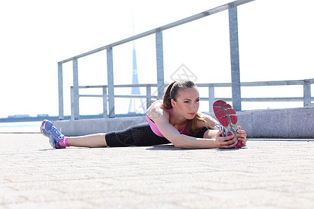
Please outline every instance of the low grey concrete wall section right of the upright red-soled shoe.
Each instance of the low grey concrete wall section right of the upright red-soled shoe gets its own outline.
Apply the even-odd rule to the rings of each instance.
[[[241,111],[238,124],[251,138],[313,139],[314,108]]]

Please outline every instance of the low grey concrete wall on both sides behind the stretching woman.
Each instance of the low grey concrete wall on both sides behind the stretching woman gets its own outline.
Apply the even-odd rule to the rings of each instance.
[[[214,117],[214,114],[209,114]],[[268,109],[237,112],[238,124],[249,138],[314,139],[314,108]],[[147,122],[145,117],[54,121],[66,136],[79,136]]]

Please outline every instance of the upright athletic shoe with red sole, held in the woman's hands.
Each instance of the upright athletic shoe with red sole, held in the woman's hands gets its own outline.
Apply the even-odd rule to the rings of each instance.
[[[234,139],[236,139],[237,145],[235,148],[241,148],[243,146],[242,141],[239,141],[239,137],[236,136],[237,130],[239,130],[237,121],[237,113],[231,107],[230,104],[223,100],[216,100],[213,103],[214,114],[219,121],[219,123],[223,126],[223,134],[222,137],[233,135]],[[221,127],[219,127],[222,130]]]

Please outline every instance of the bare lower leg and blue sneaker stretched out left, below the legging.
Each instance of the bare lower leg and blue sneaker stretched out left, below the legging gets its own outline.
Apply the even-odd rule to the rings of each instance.
[[[105,134],[90,134],[82,137],[65,137],[50,121],[43,121],[40,130],[50,139],[53,148],[67,146],[106,147]]]

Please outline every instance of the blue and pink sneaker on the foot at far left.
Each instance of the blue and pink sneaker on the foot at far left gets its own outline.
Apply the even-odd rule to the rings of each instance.
[[[40,126],[40,131],[49,138],[53,148],[66,148],[68,146],[67,138],[50,121],[44,120]]]

